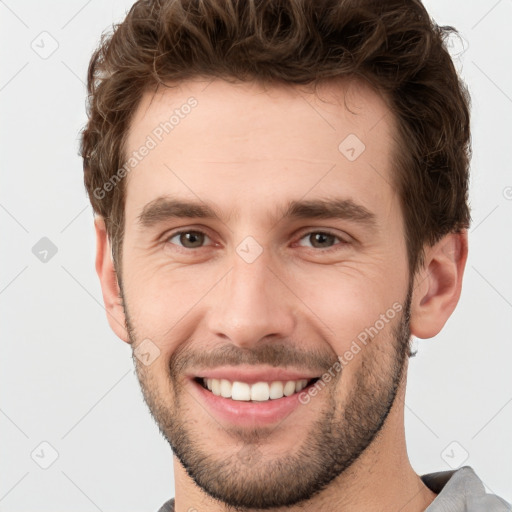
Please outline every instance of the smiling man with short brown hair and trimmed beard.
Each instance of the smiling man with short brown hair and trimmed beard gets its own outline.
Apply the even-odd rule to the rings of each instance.
[[[137,2],[89,67],[108,320],[174,452],[161,511],[504,511],[407,457],[458,302],[469,95],[419,1]]]

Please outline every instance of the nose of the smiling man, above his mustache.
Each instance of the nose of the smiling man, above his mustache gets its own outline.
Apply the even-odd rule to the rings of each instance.
[[[213,336],[250,348],[267,336],[292,335],[295,297],[273,267],[265,251],[252,263],[234,254],[212,297],[208,328]]]

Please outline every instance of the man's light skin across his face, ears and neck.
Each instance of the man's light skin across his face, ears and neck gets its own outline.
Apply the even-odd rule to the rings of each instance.
[[[325,83],[316,93],[222,80],[160,88],[143,96],[127,154],[190,96],[198,106],[125,178],[122,290],[104,221],[95,221],[96,270],[109,323],[134,350],[145,339],[159,350],[149,366],[134,362],[146,402],[179,455],[176,511],[237,509],[227,503],[290,512],[425,510],[435,494],[414,472],[405,444],[407,342],[410,335],[435,336],[453,312],[467,233],[426,247],[424,266],[409,275],[393,186],[394,118],[364,83]],[[350,133],[366,146],[352,162],[338,150]],[[141,228],[137,218],[145,205],[166,194],[211,204],[219,218]],[[363,205],[375,226],[280,215],[290,200],[332,197]],[[207,237],[186,248],[187,240],[171,238],[178,230]],[[311,235],[326,230],[339,238],[315,243]],[[252,263],[236,251],[247,236],[262,249]],[[319,374],[395,303],[402,312],[324,390],[272,428],[219,420],[185,378],[200,367],[201,356],[222,361],[226,347],[233,365],[289,367],[293,355],[297,365]],[[335,443],[343,447],[337,453]],[[327,474],[327,466],[336,474]],[[315,475],[322,471],[320,484]],[[306,492],[302,501],[295,481]],[[273,489],[277,500],[276,482],[283,484],[281,503],[272,505],[265,490]]]

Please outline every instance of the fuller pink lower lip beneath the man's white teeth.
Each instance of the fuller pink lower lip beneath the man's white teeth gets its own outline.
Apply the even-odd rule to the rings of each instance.
[[[248,402],[217,396],[195,380],[191,380],[191,383],[194,395],[199,395],[200,402],[206,405],[209,412],[224,422],[242,427],[272,425],[282,421],[302,405],[299,396],[309,387],[283,398],[265,402]]]

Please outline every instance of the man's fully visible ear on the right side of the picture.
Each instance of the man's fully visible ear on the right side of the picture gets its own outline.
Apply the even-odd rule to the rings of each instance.
[[[459,302],[467,256],[467,230],[449,233],[425,250],[425,264],[414,278],[413,336],[432,338],[441,331]]]

